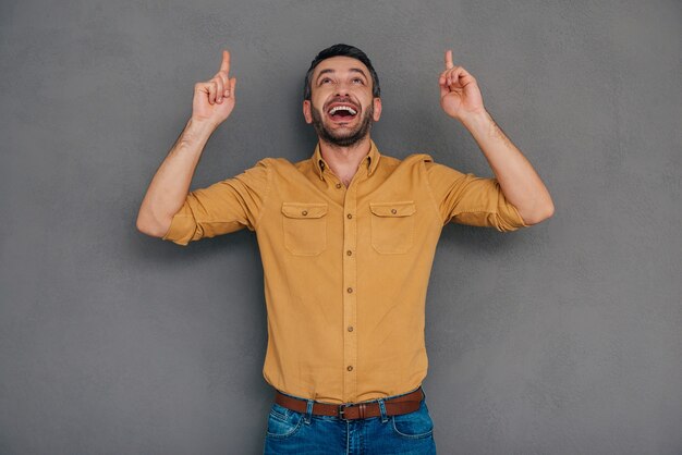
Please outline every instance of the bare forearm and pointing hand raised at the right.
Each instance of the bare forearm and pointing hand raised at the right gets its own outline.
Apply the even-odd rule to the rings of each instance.
[[[514,205],[526,224],[551,217],[555,205],[547,187],[531,162],[495,123],[483,104],[474,76],[452,63],[452,51],[446,51],[446,70],[438,81],[440,106],[474,136],[488,160],[504,197]]]

